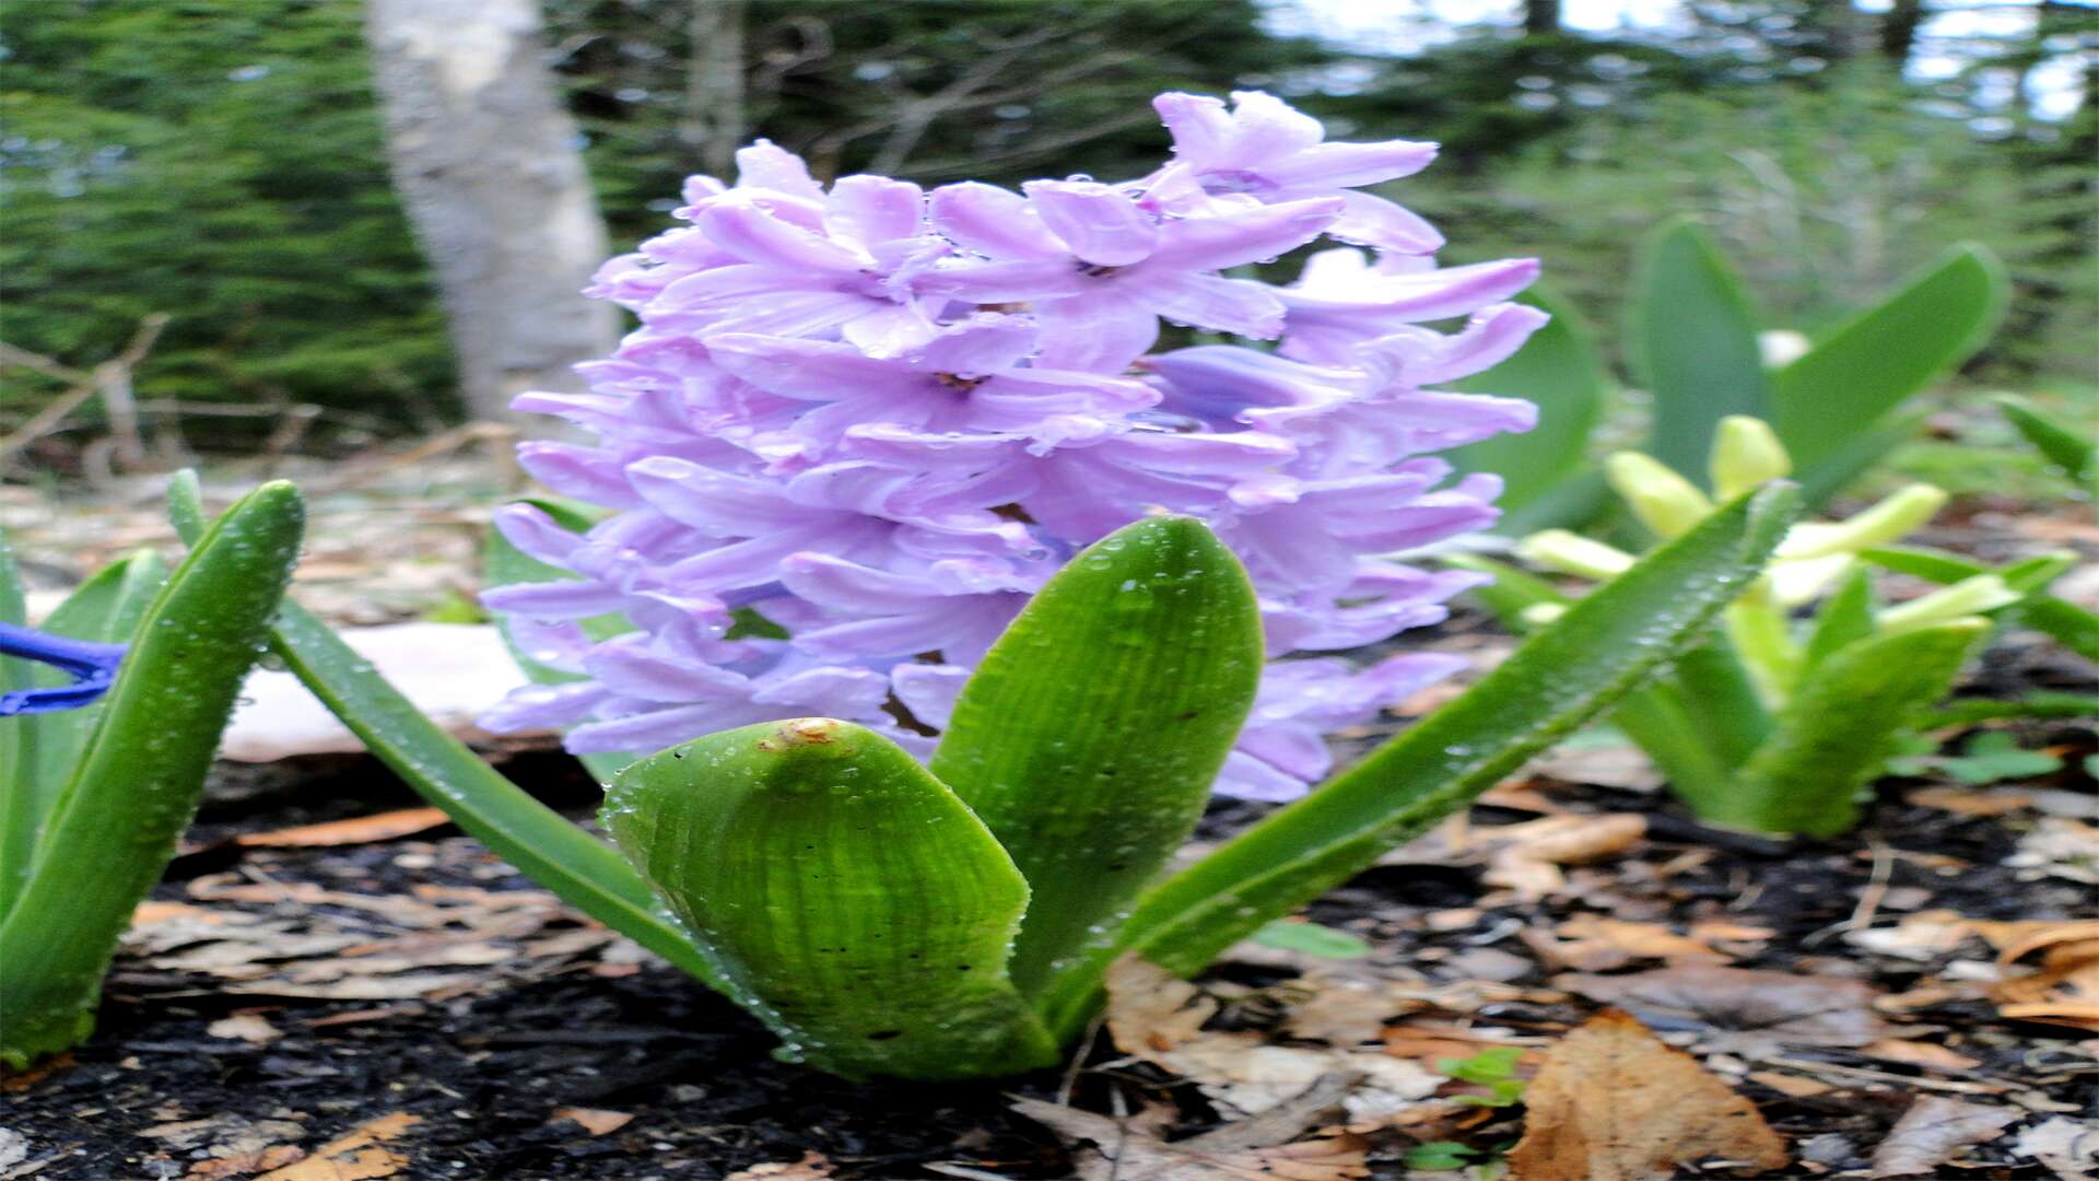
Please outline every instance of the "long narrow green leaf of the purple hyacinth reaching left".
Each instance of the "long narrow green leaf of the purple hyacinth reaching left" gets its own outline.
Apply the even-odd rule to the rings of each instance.
[[[168,515],[178,534],[191,536],[202,513],[195,475],[168,481]],[[497,775],[290,597],[271,628],[271,651],[380,763],[497,857],[699,979],[720,979],[693,939],[661,914],[649,883],[617,849]]]

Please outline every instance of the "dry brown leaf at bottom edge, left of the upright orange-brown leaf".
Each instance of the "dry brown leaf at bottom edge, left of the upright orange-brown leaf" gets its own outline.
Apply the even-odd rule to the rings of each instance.
[[[1127,1120],[1039,1099],[1020,1099],[1014,1110],[1070,1145],[1079,1181],[1356,1181],[1371,1175],[1369,1145],[1352,1133],[1276,1145],[1234,1147],[1205,1143],[1205,1137],[1167,1143]]]

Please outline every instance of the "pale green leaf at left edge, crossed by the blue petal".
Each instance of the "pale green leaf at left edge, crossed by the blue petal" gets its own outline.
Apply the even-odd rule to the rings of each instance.
[[[153,551],[118,559],[59,603],[42,630],[92,643],[124,643],[166,580],[168,563]],[[38,679],[42,677],[34,670],[27,675],[27,681]],[[48,683],[61,679],[52,675]],[[105,708],[107,702],[92,702],[76,710],[8,719],[21,723],[15,729],[23,748],[15,754],[13,773],[0,780],[0,792],[6,792],[6,807],[0,809],[6,817],[0,830],[0,916],[13,908],[27,880],[36,834],[50,820]]]

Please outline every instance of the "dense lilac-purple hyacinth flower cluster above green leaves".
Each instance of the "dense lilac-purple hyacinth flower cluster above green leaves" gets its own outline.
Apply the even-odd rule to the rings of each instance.
[[[1327,733],[1453,672],[1333,654],[1438,622],[1480,580],[1385,555],[1494,521],[1499,479],[1436,452],[1534,408],[1427,387],[1539,328],[1507,303],[1536,265],[1438,267],[1429,225],[1360,191],[1434,145],[1329,143],[1264,92],[1154,105],[1173,153],[1125,183],[825,187],[762,141],[735,185],[691,179],[688,225],[590,292],[640,328],[584,366],[588,393],[516,401],[596,435],[521,460],[611,513],[577,534],[502,511],[575,578],[487,603],[569,679],[485,725],[651,752],[814,714],[924,754],[1029,597],[1152,513],[1207,523],[1259,593],[1270,666],[1217,790],[1297,796]],[[1251,277],[1320,240],[1341,246],[1295,282]],[[592,639],[607,614],[634,630]]]

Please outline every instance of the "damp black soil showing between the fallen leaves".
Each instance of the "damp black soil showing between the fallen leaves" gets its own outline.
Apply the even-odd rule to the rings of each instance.
[[[2057,727],[2042,738],[2055,740],[2072,767],[2093,750],[2086,729]],[[588,813],[592,786],[565,761],[523,757],[510,771],[577,815]],[[2002,866],[2032,813],[1965,817],[1912,807],[1900,803],[1906,786],[1914,784],[1883,784],[1883,799],[1858,834],[1776,843],[1702,830],[1667,796],[1549,784],[1553,799],[1574,809],[1648,813],[1648,841],[1608,872],[1576,872],[1568,891],[1545,904],[1486,908],[1459,929],[1432,931],[1423,916],[1478,906],[1488,889],[1476,866],[1377,868],[1320,899],[1312,918],[1371,939],[1377,965],[1404,965],[1429,979],[1471,979],[1482,948],[1522,954],[1520,929],[1549,929],[1572,914],[1673,925],[1723,914],[1778,931],[1763,952],[1736,967],[1864,975],[1883,992],[1902,992],[1942,965],[1868,956],[1830,937],[1868,887],[1885,889],[1910,910],[1944,908],[1971,918],[2091,914],[2089,887],[2017,876]],[[2065,771],[2061,786],[2091,790],[2076,771]],[[229,870],[252,880],[367,893],[430,883],[533,889],[476,843],[447,836],[449,830],[332,849],[227,843],[235,832],[416,803],[365,761],[243,773],[241,782],[218,784],[214,801],[191,851],[162,885],[162,899],[185,899],[191,880]],[[1205,834],[1217,836],[1257,811],[1224,805]],[[1484,807],[1476,820],[1503,824],[1526,815]],[[1883,912],[1883,923],[1891,912]],[[1274,965],[1217,969],[1220,979],[1238,983],[1282,975],[1287,969]],[[1530,962],[1503,981],[1543,988],[1549,975]],[[1014,1095],[1056,1097],[1066,1082],[1060,1072],[953,1086],[840,1082],[775,1061],[772,1042],[756,1021],[655,960],[600,973],[586,958],[550,975],[497,981],[443,1000],[271,1000],[222,996],[212,983],[122,958],[94,1040],[57,1070],[8,1082],[0,1124],[27,1139],[27,1158],[13,1170],[0,1160],[0,1177],[212,1175],[193,1170],[231,1152],[225,1147],[231,1131],[275,1128],[264,1141],[311,1152],[395,1112],[420,1118],[393,1143],[407,1160],[395,1175],[418,1179],[716,1179],[760,1162],[793,1162],[804,1152],[823,1154],[842,1179],[936,1177],[928,1164],[938,1162],[1014,1179],[1068,1173],[1058,1141],[1008,1110]],[[1515,1000],[1482,1009],[1478,1019],[1553,1032],[1593,1011],[1595,1004],[1578,998]],[[206,1028],[229,1013],[260,1013],[283,1036],[269,1044],[212,1036]],[[2011,1025],[1984,1000],[1950,1002],[1910,1019],[1944,1028],[1927,1040],[1981,1059],[1984,1065],[1969,1072],[1973,1078],[2011,1080],[2057,1112],[2099,1116],[2099,1059],[2074,1047],[2086,1034]],[[1094,1047],[1091,1061],[1110,1055]],[[1811,1137],[1826,1137],[1818,1141],[1824,1164],[1816,1170],[1864,1166],[1877,1137],[1906,1105],[1904,1078],[1912,1068],[1845,1049],[1799,1049],[1793,1057],[1883,1076],[1858,1076],[1853,1084],[1809,1097],[1738,1080],[1797,1152]],[[1073,1101],[1108,1110],[1108,1091],[1121,1086],[1125,1095],[1180,1101],[1182,1128],[1211,1118],[1190,1086],[1148,1070],[1077,1072]],[[560,1107],[619,1112],[632,1120],[592,1135],[577,1122],[556,1120]],[[197,1135],[166,1131],[185,1120],[216,1124]],[[155,1135],[141,1135],[149,1131]],[[1404,1175],[1396,1162],[1400,1149],[1404,1141],[1383,1154],[1381,1177]],[[1975,1156],[1998,1164],[1963,1175],[2044,1175],[2002,1147],[1984,1145]]]

